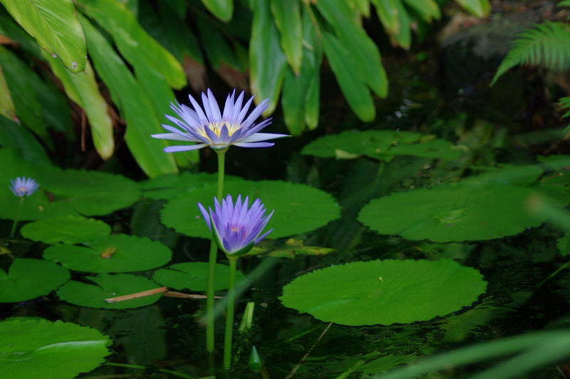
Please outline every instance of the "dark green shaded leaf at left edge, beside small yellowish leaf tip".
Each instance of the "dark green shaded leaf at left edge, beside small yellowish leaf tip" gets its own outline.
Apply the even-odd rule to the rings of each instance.
[[[0,46],[0,67],[16,107],[16,116],[32,132],[50,142],[48,128],[43,121],[41,104],[36,92],[31,91],[33,80],[40,80],[14,53]]]

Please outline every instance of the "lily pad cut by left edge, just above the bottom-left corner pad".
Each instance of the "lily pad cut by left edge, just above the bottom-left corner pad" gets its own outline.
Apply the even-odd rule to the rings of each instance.
[[[0,269],[0,302],[35,299],[69,280],[69,271],[53,262],[16,258],[8,273]],[[4,378],[0,375],[0,378]]]

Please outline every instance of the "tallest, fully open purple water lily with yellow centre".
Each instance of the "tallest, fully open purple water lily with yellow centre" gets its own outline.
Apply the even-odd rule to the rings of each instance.
[[[271,123],[271,119],[266,119],[259,124],[254,121],[269,106],[269,100],[261,102],[254,110],[245,118],[249,106],[252,105],[253,97],[251,97],[242,107],[244,101],[244,92],[240,93],[237,100],[234,101],[235,90],[226,98],[224,112],[220,114],[219,107],[212,94],[207,90],[207,95],[202,92],[202,107],[194,100],[194,97],[188,95],[192,107],[186,105],[170,103],[170,108],[176,112],[180,119],[165,114],[176,127],[162,124],[162,127],[171,133],[152,134],[152,137],[160,139],[171,139],[173,141],[198,142],[194,145],[168,146],[165,148],[167,153],[175,151],[187,151],[202,149],[204,146],[211,146],[212,149],[227,149],[230,145],[241,147],[269,147],[273,146],[273,142],[264,142],[268,139],[280,137],[289,137],[287,134],[276,133],[258,133],[261,129]],[[205,111],[205,113],[204,113]]]

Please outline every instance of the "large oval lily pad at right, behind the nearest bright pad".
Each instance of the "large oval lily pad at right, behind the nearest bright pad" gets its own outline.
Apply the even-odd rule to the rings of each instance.
[[[494,183],[442,185],[375,199],[358,220],[378,233],[408,240],[491,240],[541,223],[525,204],[532,193]]]

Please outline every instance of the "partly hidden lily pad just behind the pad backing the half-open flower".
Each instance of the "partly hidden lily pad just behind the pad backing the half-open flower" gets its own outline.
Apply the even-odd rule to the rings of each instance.
[[[167,199],[175,198],[196,188],[204,188],[204,186],[209,184],[217,184],[217,180],[217,174],[182,172],[181,174],[161,175],[144,181],[141,184],[141,189],[142,195],[147,198]],[[243,180],[239,176],[224,176],[225,183]]]

